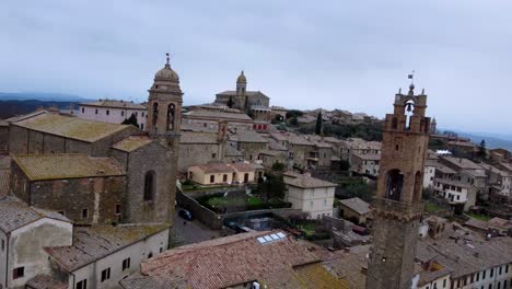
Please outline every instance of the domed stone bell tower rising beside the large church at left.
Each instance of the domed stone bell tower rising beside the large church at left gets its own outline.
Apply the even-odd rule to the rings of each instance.
[[[164,68],[154,74],[154,82],[149,89],[148,100],[148,122],[147,130],[149,136],[156,140],[162,147],[167,148],[167,155],[162,157],[158,164],[164,170],[155,173],[156,185],[163,194],[168,197],[167,218],[172,223],[174,218],[174,200],[176,196],[176,173],[179,148],[179,130],[182,125],[183,92],[179,88],[179,77],[171,68],[167,54]],[[155,164],[156,165],[156,164]],[[156,204],[159,198],[154,200]],[[162,199],[163,201],[163,199]]]

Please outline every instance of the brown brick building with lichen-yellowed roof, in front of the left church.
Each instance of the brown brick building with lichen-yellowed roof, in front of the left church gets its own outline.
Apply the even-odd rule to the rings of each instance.
[[[126,173],[110,158],[14,155],[10,187],[28,206],[59,211],[75,223],[112,223],[121,220]]]

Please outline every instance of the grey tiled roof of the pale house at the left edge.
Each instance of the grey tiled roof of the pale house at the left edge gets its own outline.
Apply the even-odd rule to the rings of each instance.
[[[60,213],[28,207],[24,201],[16,197],[8,196],[0,199],[0,230],[5,233],[12,232],[43,218],[71,222]]]

